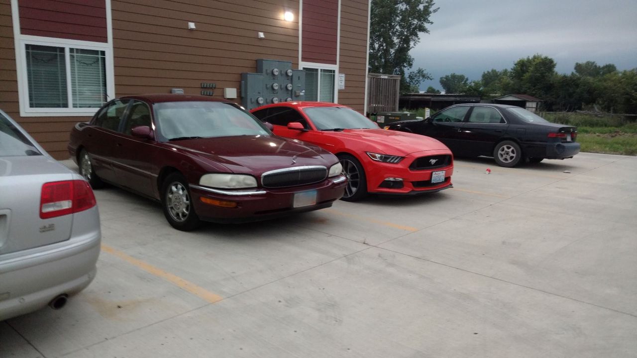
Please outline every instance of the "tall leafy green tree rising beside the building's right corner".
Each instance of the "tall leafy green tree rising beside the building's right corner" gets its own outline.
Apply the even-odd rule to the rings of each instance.
[[[410,50],[420,41],[421,33],[429,33],[429,17],[438,11],[433,0],[372,0],[369,29],[369,70],[373,73],[400,75],[401,92],[431,78],[417,69],[411,78],[405,76],[413,66]],[[410,74],[411,75],[411,74]]]

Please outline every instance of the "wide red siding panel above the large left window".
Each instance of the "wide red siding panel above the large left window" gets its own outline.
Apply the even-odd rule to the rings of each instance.
[[[105,0],[18,0],[20,33],[107,42]]]

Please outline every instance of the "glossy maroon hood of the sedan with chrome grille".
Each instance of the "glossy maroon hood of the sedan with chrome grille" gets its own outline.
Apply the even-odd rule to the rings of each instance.
[[[233,173],[255,176],[269,170],[294,166],[329,166],[338,159],[318,147],[308,148],[296,140],[278,136],[233,136],[171,141],[181,148],[224,165]]]

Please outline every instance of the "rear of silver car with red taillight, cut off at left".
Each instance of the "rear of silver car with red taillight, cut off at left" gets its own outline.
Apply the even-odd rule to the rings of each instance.
[[[62,308],[95,277],[100,240],[89,183],[0,111],[0,321]]]

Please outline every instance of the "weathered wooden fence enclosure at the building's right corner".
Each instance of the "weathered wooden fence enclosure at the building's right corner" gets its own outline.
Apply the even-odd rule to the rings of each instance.
[[[368,73],[367,113],[398,110],[400,78],[401,76],[398,75]]]

